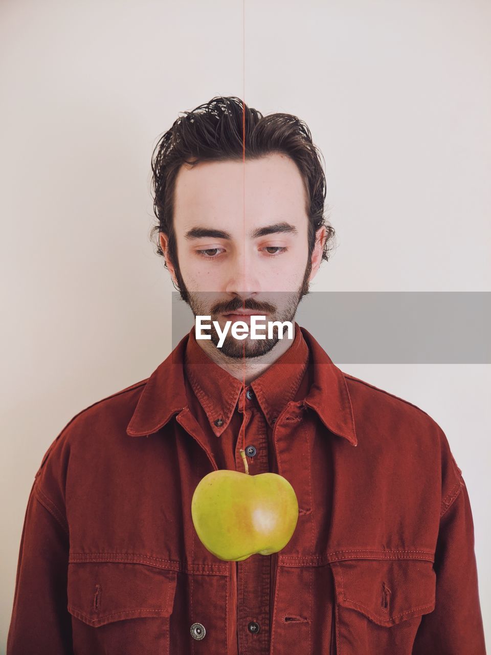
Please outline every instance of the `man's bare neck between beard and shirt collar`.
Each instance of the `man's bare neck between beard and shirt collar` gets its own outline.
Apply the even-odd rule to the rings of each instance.
[[[196,343],[198,343],[198,346],[206,352],[208,357],[215,362],[215,364],[219,365],[219,367],[223,368],[227,373],[230,373],[232,377],[235,377],[238,380],[245,380],[245,384],[247,385],[260,375],[263,375],[264,371],[267,371],[274,362],[279,360],[282,354],[290,348],[294,340],[295,322],[293,322],[293,338],[287,339],[286,337],[283,337],[283,339],[278,339],[273,348],[260,357],[236,359],[224,355],[223,352],[221,352],[220,349],[208,339],[198,339]]]

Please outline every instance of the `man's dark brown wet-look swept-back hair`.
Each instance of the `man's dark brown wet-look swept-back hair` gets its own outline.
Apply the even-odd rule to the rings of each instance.
[[[175,257],[173,193],[182,164],[237,160],[244,155],[259,159],[271,153],[284,153],[297,164],[306,187],[309,256],[316,243],[316,231],[325,225],[327,238],[322,257],[327,261],[335,230],[324,217],[326,188],[322,155],[312,143],[308,126],[291,114],[263,116],[233,96],[216,96],[182,113],[160,138],[152,155],[153,206],[158,224],[153,227],[151,238],[156,235],[156,253],[164,255],[158,239],[158,233],[162,232],[168,236],[169,259],[179,270]]]

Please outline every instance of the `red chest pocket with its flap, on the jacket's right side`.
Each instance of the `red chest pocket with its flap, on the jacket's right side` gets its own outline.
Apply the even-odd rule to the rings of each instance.
[[[331,569],[336,655],[410,655],[422,616],[435,609],[432,563],[359,559]]]

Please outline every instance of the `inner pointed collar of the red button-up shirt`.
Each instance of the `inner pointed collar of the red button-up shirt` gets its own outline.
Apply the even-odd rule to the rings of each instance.
[[[253,390],[266,420],[273,426],[283,407],[293,400],[308,364],[308,346],[300,327],[295,324],[295,338],[288,350],[262,375],[245,385]],[[244,406],[244,381],[215,364],[198,345],[194,329],[189,333],[185,350],[185,375],[208,416],[217,437],[227,429],[237,403]],[[215,421],[221,419],[219,426]]]

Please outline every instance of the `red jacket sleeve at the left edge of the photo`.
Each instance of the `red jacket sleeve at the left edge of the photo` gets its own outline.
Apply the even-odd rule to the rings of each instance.
[[[67,610],[68,553],[64,516],[36,479],[20,542],[7,655],[73,655]]]

